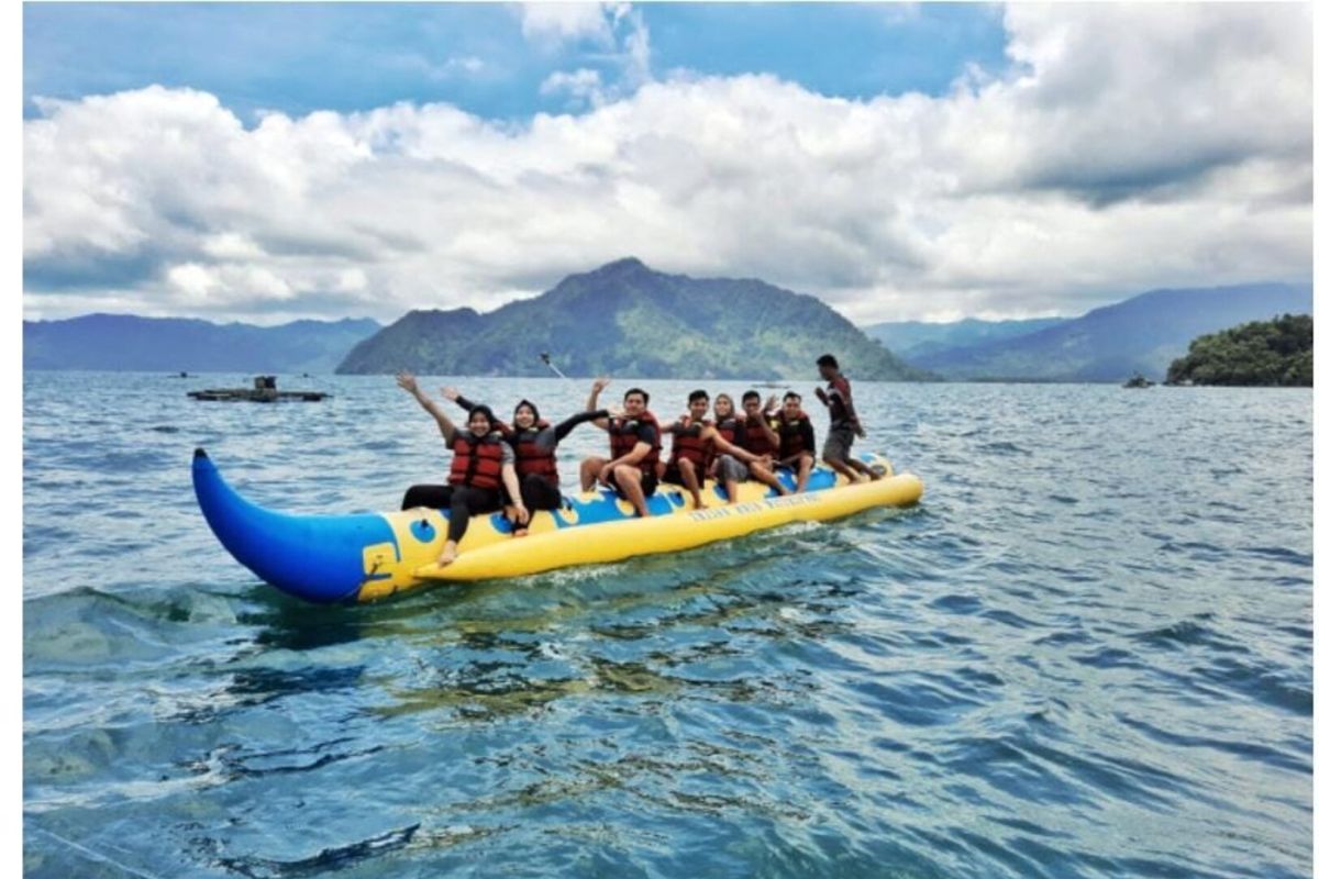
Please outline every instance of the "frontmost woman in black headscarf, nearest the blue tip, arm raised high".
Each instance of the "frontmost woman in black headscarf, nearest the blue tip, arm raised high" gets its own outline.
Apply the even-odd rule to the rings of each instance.
[[[398,373],[397,382],[431,414],[439,424],[445,445],[454,451],[448,485],[414,485],[404,496],[402,506],[405,510],[415,506],[448,510],[448,531],[438,559],[441,567],[458,557],[458,543],[467,534],[474,513],[493,513],[503,506],[501,486],[513,502],[513,521],[526,525],[529,515],[513,467],[513,449],[495,430],[495,415],[489,407],[474,406],[467,414],[467,430],[462,430],[417,386],[413,376]]]

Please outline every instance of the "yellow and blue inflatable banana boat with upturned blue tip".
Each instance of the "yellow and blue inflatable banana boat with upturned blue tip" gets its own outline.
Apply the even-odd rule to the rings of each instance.
[[[252,503],[224,481],[204,449],[193,455],[193,488],[207,523],[230,553],[261,580],[315,602],[373,601],[437,581],[471,581],[621,561],[633,556],[690,550],[790,522],[820,522],[878,506],[921,499],[921,480],[896,474],[882,457],[863,455],[886,476],[848,485],[828,468],[815,468],[801,494],[777,497],[758,482],[739,488],[729,505],[723,488],[706,482],[703,510],[677,486],[661,485],[638,518],[611,489],[566,498],[542,511],[530,534],[513,538],[503,513],[472,517],[458,559],[437,561],[448,511],[412,509],[352,515],[291,515]],[[795,488],[786,469],[780,477]],[[839,485],[842,482],[842,485]]]

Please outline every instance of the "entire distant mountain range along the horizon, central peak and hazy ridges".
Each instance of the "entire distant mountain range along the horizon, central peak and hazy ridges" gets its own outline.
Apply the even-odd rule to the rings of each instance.
[[[834,353],[859,380],[1162,377],[1198,336],[1312,314],[1311,285],[1151,290],[1079,318],[876,324],[756,279],[690,278],[620,260],[489,314],[412,311],[280,327],[86,315],[24,322],[24,369],[810,378]]]

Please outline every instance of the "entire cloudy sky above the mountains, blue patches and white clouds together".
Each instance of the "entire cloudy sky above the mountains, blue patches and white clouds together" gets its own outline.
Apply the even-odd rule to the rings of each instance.
[[[24,316],[489,310],[636,256],[857,323],[1310,281],[1303,4],[25,4]]]

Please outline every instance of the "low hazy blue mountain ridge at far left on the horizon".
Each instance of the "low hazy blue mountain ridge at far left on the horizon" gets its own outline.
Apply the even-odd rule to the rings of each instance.
[[[371,319],[294,320],[280,327],[102,314],[24,320],[22,368],[327,373],[377,329]]]

